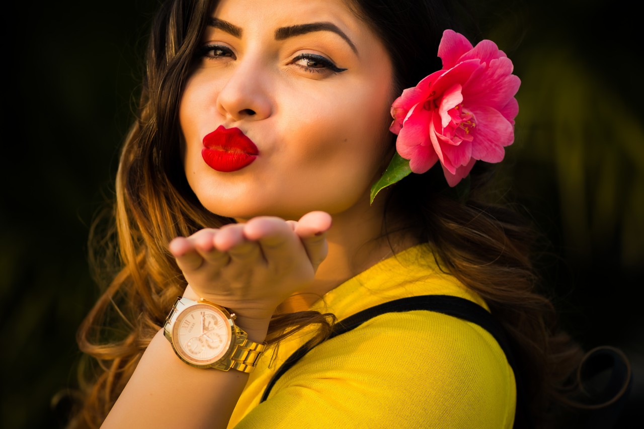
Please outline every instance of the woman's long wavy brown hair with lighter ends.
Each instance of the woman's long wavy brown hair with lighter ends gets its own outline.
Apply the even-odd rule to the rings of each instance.
[[[120,155],[116,201],[107,221],[97,220],[91,234],[96,278],[111,281],[77,333],[86,360],[70,428],[100,426],[182,294],[186,283],[167,251],[170,240],[234,222],[205,210],[188,186],[178,125],[184,84],[213,3],[169,0],[155,15],[137,117]],[[457,24],[463,23],[466,9],[449,10],[454,1],[347,4],[372,25],[385,46],[395,46],[389,52],[401,90],[439,70],[435,52],[444,28],[464,32]],[[533,267],[538,241],[531,225],[498,195],[483,191],[489,188],[489,177],[487,167],[475,168],[469,187],[459,187],[467,188],[464,194],[455,193],[432,171],[405,178],[390,193],[383,233],[406,221],[404,228],[433,244],[442,269],[486,300],[520,350],[526,374],[531,374],[527,388],[533,414],[545,415],[560,401],[581,352],[565,334],[556,333],[553,305],[538,293]],[[332,316],[317,312],[278,315],[271,321],[269,338],[278,343],[317,323],[321,340],[332,322]]]

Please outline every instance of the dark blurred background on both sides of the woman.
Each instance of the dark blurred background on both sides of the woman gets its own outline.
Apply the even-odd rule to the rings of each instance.
[[[516,140],[502,173],[551,240],[547,286],[564,327],[584,347],[613,345],[629,356],[641,399],[644,39],[637,14],[608,0],[482,3],[482,35],[522,79]],[[76,386],[75,331],[99,295],[88,267],[89,228],[113,197],[157,5],[17,2],[5,15],[3,428],[60,427],[52,400]],[[626,414],[636,415],[633,404]],[[619,427],[631,426],[622,419]]]

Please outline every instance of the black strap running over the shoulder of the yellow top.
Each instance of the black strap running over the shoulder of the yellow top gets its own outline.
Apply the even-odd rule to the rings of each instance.
[[[489,312],[473,303],[472,301],[457,296],[450,295],[422,295],[411,296],[409,298],[401,298],[399,300],[389,301],[380,305],[375,305],[366,310],[358,312],[353,316],[337,322],[332,330],[332,334],[328,339],[334,338],[340,334],[344,334],[356,327],[359,327],[368,319],[379,316],[387,312],[406,312],[413,310],[428,310],[448,314],[457,318],[465,319],[473,323],[477,323],[480,327],[487,330],[496,340],[498,345],[503,349],[506,354],[507,361],[515,373],[516,380],[516,412],[515,412],[515,428],[532,428],[533,423],[528,418],[526,408],[526,395],[524,394],[524,385],[521,374],[523,371],[518,368],[513,352],[512,343],[507,338],[507,334],[503,327],[489,314]],[[269,397],[270,390],[275,383],[290,367],[295,365],[301,357],[303,357],[312,348],[311,342],[308,341],[302,347],[298,348],[289,358],[279,367],[275,375],[270,379],[266,390],[261,396],[261,401],[266,401]]]

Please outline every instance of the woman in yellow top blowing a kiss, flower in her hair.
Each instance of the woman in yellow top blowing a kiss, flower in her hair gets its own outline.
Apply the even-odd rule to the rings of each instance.
[[[442,111],[457,126],[442,124],[441,138],[470,144],[473,158],[457,162],[445,140],[421,145],[436,137],[413,132],[418,115],[440,113],[431,73],[441,60],[460,71],[456,81],[483,64],[451,57],[471,49],[451,31],[463,16],[454,8],[161,6],[117,177],[122,266],[79,331],[102,371],[75,424],[512,427],[518,374],[475,323],[388,312],[325,341],[336,319],[426,295],[473,302],[505,327],[542,423],[579,352],[553,334],[553,308],[536,293],[528,225],[486,203],[489,166],[475,162],[498,162],[512,142],[511,62],[485,45],[486,61],[506,67],[497,113],[457,111],[465,100]],[[443,99],[464,97],[456,81]],[[414,110],[418,97],[436,104]],[[483,148],[471,135],[497,141]],[[126,334],[97,343],[102,325]],[[307,341],[310,351],[271,381]],[[232,360],[194,367],[217,353]]]

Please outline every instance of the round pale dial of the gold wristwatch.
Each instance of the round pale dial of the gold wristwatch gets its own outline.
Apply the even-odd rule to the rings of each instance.
[[[221,359],[231,345],[232,332],[224,314],[207,304],[196,304],[178,314],[172,330],[176,351],[184,359],[207,365]]]

